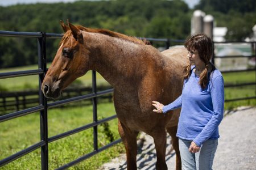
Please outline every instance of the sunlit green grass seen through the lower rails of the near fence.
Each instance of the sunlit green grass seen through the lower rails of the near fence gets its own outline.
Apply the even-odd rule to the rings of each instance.
[[[98,117],[115,114],[113,103],[98,104]],[[92,106],[78,108],[56,108],[48,110],[49,137],[79,128],[93,120]],[[119,138],[117,119],[108,122],[109,133],[114,140]],[[15,118],[0,124],[0,159],[6,158],[40,141],[39,113]],[[93,151],[93,129],[81,131],[69,137],[49,143],[49,169],[67,164]],[[104,126],[98,126],[98,147],[110,143]],[[97,169],[102,163],[124,152],[122,143],[86,159],[69,169]],[[40,149],[11,162],[1,169],[40,169]]]

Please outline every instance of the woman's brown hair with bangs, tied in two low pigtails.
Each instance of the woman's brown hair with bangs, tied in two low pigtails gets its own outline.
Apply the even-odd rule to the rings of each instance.
[[[210,37],[203,33],[192,35],[185,41],[185,48],[189,52],[197,52],[201,61],[205,63],[205,69],[200,74],[199,84],[201,88],[205,88],[208,83],[208,70],[207,66],[210,64],[213,54],[213,42]],[[214,66],[213,66],[214,67]],[[213,69],[212,69],[213,70]],[[191,75],[191,65],[185,66],[184,68],[184,79],[188,79]]]

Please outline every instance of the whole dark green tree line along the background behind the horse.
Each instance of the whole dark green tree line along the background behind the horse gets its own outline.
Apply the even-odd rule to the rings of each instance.
[[[76,1],[0,7],[0,30],[62,33],[59,20],[105,28],[129,36],[186,39],[195,9],[228,27],[227,40],[243,40],[256,23],[254,0],[201,0],[194,9],[181,0]],[[47,39],[47,62],[59,39]],[[37,63],[36,39],[0,37],[0,68]]]

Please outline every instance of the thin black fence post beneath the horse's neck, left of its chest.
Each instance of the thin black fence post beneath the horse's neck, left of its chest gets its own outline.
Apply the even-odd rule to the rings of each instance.
[[[96,85],[96,71],[92,71],[92,92],[93,94],[97,93],[97,85]],[[97,97],[93,97],[93,122],[97,122]],[[93,147],[94,151],[98,151],[98,127],[93,127]]]

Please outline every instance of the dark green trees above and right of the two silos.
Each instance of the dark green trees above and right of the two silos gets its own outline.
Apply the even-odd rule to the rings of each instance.
[[[256,24],[255,0],[201,0],[196,8],[213,15],[217,27],[228,28],[226,40],[245,40]]]

